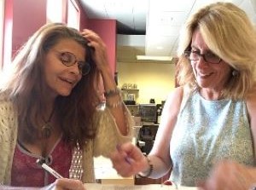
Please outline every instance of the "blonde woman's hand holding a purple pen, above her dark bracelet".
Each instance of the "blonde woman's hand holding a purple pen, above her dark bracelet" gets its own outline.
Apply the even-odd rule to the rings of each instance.
[[[147,159],[141,150],[131,142],[119,145],[110,158],[113,168],[117,170],[120,176],[128,177],[148,170]]]

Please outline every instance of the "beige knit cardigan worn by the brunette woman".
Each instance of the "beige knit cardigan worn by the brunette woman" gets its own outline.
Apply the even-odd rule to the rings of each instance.
[[[130,127],[129,135],[119,133],[117,125],[108,108],[96,114],[96,139],[87,141],[83,149],[83,182],[94,182],[93,157],[105,156],[113,151],[118,143],[131,141],[131,114],[126,110],[126,120]],[[13,163],[15,145],[17,141],[18,118],[11,101],[4,100],[0,95],[0,184],[9,185],[11,181],[11,167]]]

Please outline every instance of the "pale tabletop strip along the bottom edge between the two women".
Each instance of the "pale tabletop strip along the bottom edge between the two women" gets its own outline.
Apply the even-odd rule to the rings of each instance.
[[[197,187],[175,187],[160,184],[151,185],[109,185],[99,183],[85,183],[86,190],[196,190]]]

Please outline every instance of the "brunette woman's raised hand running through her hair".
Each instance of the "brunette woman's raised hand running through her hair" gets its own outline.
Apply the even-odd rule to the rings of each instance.
[[[97,68],[102,71],[104,66],[108,66],[106,44],[102,41],[102,38],[96,34],[96,32],[84,29],[81,34],[89,41],[88,46],[94,49],[93,59],[96,61]]]

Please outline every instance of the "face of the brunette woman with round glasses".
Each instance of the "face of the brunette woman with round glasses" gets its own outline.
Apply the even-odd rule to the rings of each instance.
[[[78,62],[73,66],[65,66],[60,59],[63,52],[71,53],[76,60],[84,61],[84,47],[73,39],[61,39],[52,49],[49,49],[44,62],[45,81],[49,87],[49,95],[67,96],[82,78]],[[66,58],[65,58],[66,59]]]

